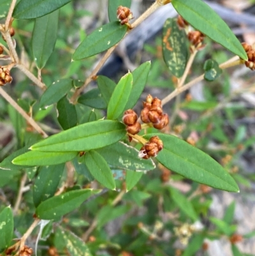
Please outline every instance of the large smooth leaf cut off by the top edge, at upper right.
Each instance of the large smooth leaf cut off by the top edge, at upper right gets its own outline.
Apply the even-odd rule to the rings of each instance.
[[[247,60],[244,48],[230,27],[203,1],[172,0],[171,3],[175,10],[195,29],[206,34],[230,52]]]

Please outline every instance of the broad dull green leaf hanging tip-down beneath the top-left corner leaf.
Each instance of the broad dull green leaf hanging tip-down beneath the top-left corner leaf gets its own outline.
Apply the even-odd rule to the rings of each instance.
[[[41,69],[51,56],[57,41],[59,10],[40,17],[34,22],[32,51],[36,66]]]

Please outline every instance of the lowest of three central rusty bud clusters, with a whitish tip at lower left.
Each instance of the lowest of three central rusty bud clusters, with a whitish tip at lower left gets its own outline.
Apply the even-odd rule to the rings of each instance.
[[[159,137],[151,137],[149,142],[145,143],[140,151],[138,156],[143,159],[149,159],[150,156],[157,156],[159,151],[163,149],[163,141]]]

